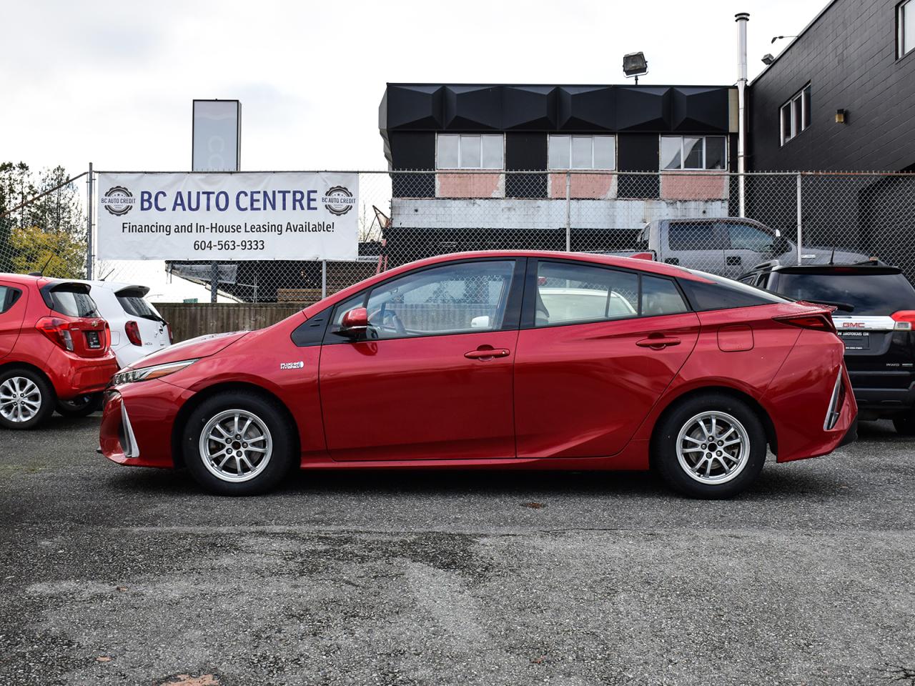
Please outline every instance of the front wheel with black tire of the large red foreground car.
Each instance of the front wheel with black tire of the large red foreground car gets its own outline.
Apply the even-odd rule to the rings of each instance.
[[[233,424],[236,416],[240,421]],[[252,423],[246,432],[232,434],[233,425],[238,426],[241,432],[248,419],[252,419]],[[218,423],[221,428],[217,430],[211,423]],[[225,434],[225,427],[229,428],[229,434]],[[201,434],[205,430],[208,435],[220,436],[220,441],[210,440],[205,448],[214,459],[224,458],[222,468],[215,462],[210,463],[201,454]],[[226,436],[225,440],[223,436]],[[184,464],[191,476],[203,488],[222,496],[264,493],[275,488],[296,463],[295,427],[285,409],[277,402],[251,392],[226,391],[201,402],[190,413],[181,438]],[[262,445],[269,448],[269,452],[256,452]],[[220,451],[218,455],[217,448]],[[256,461],[264,460],[264,456],[265,465]],[[249,476],[245,475],[246,461],[248,466],[252,466]],[[226,474],[233,468],[236,476],[246,480],[233,480],[231,473]]]

